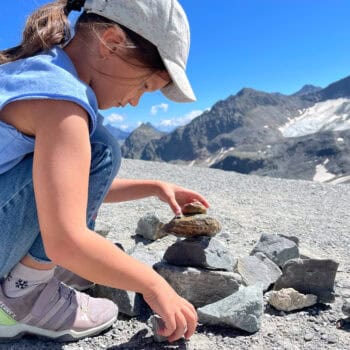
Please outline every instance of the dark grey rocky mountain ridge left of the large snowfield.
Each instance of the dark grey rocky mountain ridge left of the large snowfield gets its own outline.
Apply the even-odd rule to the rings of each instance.
[[[209,111],[145,146],[141,159],[193,161],[218,150],[277,140],[278,126],[311,102],[299,97],[243,89]]]

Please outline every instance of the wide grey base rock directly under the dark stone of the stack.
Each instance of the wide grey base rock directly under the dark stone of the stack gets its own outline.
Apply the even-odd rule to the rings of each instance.
[[[236,292],[242,281],[239,274],[210,271],[194,267],[180,267],[165,262],[153,268],[163,276],[175,291],[195,307],[214,303]]]

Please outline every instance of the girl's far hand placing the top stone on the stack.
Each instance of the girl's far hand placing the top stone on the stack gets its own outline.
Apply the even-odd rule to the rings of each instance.
[[[157,196],[161,201],[169,204],[175,215],[181,215],[183,206],[195,201],[209,208],[209,203],[199,193],[167,182],[159,182]]]

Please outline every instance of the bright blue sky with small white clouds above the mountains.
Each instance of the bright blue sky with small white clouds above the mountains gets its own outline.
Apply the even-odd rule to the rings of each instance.
[[[2,1],[0,49],[16,45],[25,17],[46,0]],[[136,108],[103,111],[124,129],[188,122],[243,87],[291,94],[350,75],[349,0],[180,0],[191,25],[188,76],[197,102],[159,92]],[[112,122],[113,121],[113,122]]]

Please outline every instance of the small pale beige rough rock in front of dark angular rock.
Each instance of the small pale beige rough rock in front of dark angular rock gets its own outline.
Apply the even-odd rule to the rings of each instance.
[[[275,309],[281,311],[300,310],[317,303],[317,296],[302,294],[293,288],[284,288],[269,293],[268,302]]]

